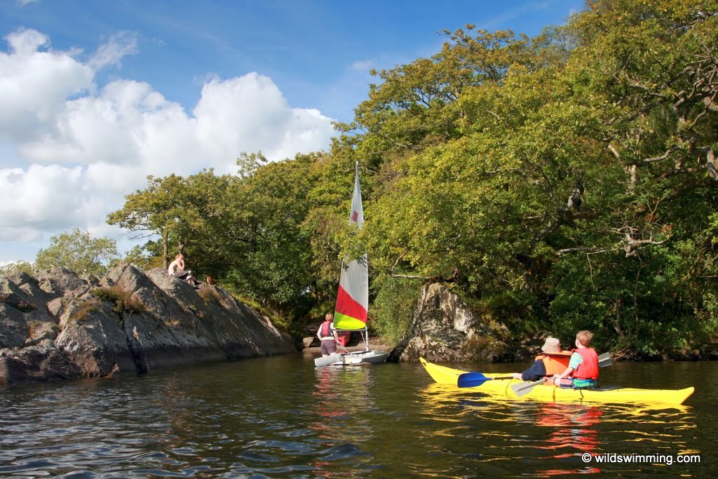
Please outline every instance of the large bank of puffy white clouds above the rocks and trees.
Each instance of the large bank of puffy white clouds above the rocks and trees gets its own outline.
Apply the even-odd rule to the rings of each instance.
[[[113,231],[106,215],[146,175],[234,172],[240,152],[269,159],[325,149],[334,134],[320,111],[292,108],[271,78],[212,78],[191,113],[148,83],[97,87],[99,68],[137,54],[131,34],[111,37],[87,62],[50,49],[32,29],[0,52],[0,241],[37,241],[70,228]],[[10,161],[12,160],[12,161]],[[24,162],[27,167],[17,167]],[[0,261],[17,258],[0,257]]]

